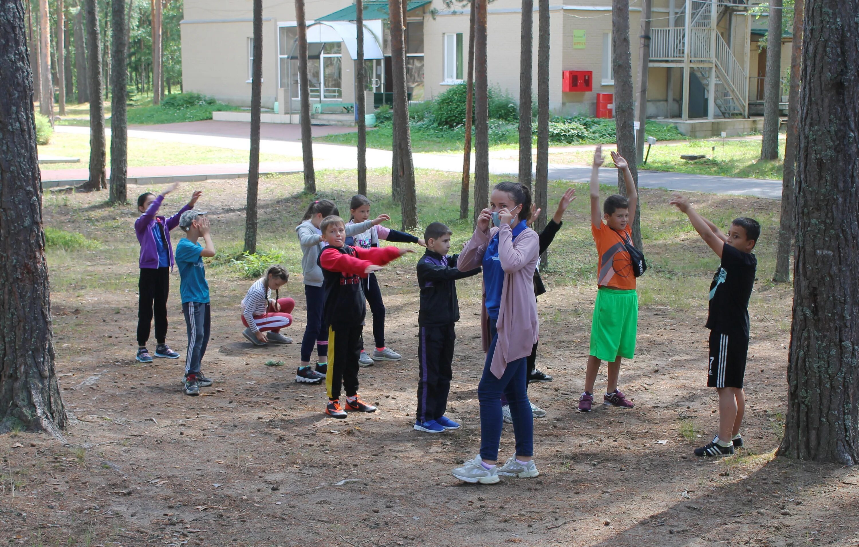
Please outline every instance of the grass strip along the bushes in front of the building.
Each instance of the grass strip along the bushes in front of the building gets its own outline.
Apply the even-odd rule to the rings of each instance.
[[[675,126],[666,126],[664,124],[656,123],[653,120],[649,120],[647,122],[647,131],[649,135],[654,135],[660,140],[683,138]],[[610,131],[604,131],[601,133],[601,135],[598,133],[594,138],[585,138],[583,140],[576,141],[576,143],[573,144],[602,144],[614,142],[613,126]],[[461,152],[464,148],[465,134],[465,129],[462,127],[442,129],[430,123],[412,122],[411,151],[430,153]],[[392,135],[393,128],[391,124],[382,124],[381,126],[376,127],[373,131],[367,132],[367,146],[368,148],[391,150]],[[351,146],[356,146],[358,143],[358,135],[356,132],[341,133],[338,135],[327,135],[326,137],[315,138],[314,140],[324,143],[349,144]],[[490,120],[489,144],[490,150],[512,150],[518,148],[518,126],[515,123]],[[551,146],[565,146],[570,143],[550,141],[549,144]],[[537,145],[536,138],[533,140],[533,145]]]

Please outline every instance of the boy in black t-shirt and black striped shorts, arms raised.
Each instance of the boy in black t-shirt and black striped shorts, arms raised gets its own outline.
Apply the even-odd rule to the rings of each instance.
[[[707,386],[719,393],[719,434],[696,456],[727,456],[743,446],[740,423],[746,410],[743,375],[749,347],[749,297],[752,295],[758,259],[752,253],[760,237],[754,218],[734,218],[728,235],[696,212],[689,199],[673,194],[671,205],[685,212],[698,234],[722,259],[710,284],[710,368]]]

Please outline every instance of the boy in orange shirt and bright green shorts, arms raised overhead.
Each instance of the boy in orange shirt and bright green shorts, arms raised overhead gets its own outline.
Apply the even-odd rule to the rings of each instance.
[[[594,404],[594,382],[602,361],[608,363],[608,385],[603,403],[631,409],[632,403],[618,390],[620,360],[632,359],[636,352],[638,327],[638,295],[630,253],[632,221],[635,218],[638,194],[632,180],[630,166],[618,153],[612,151],[612,161],[623,171],[626,197],[610,195],[603,203],[600,215],[600,175],[602,147],[594,152],[591,170],[591,231],[594,233],[600,266],[597,270],[594,321],[591,325],[590,356],[585,372],[585,390],[579,397],[579,412],[590,412]],[[603,218],[606,222],[603,223]]]

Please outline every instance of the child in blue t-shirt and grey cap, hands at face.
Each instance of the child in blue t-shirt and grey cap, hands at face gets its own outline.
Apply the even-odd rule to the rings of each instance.
[[[206,353],[209,344],[211,326],[211,307],[209,304],[209,283],[206,282],[206,271],[203,266],[204,256],[215,256],[215,244],[209,233],[209,219],[205,212],[186,211],[179,219],[179,227],[186,232],[186,237],[176,244],[176,266],[179,267],[180,287],[182,297],[182,313],[185,314],[185,324],[188,330],[188,351],[185,360],[185,380],[183,382],[186,395],[199,395],[200,386],[212,384],[200,370],[200,361]],[[202,237],[205,247],[197,243]]]

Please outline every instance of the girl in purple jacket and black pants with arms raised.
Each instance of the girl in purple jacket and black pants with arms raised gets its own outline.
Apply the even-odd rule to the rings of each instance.
[[[149,326],[155,315],[155,357],[179,359],[179,353],[167,345],[167,298],[170,293],[170,270],[173,268],[173,245],[170,230],[179,224],[183,212],[194,207],[202,190],[194,192],[188,204],[170,218],[157,216],[164,196],[173,192],[179,183],[174,182],[157,196],[151,192],[140,194],[137,210],[142,212],[134,222],[137,241],[140,242],[140,300],[137,308],[137,360],[151,363],[152,356],[146,349],[149,341]]]

